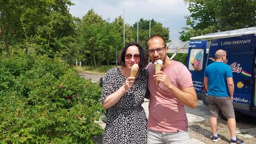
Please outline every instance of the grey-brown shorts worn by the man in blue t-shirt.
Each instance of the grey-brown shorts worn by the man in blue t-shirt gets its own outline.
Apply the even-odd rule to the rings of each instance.
[[[235,118],[232,100],[229,97],[208,97],[208,104],[210,108],[211,117],[218,117],[219,110],[225,115],[227,119]]]

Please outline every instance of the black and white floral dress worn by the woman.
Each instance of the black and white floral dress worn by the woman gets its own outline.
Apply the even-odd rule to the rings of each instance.
[[[125,79],[119,67],[109,69],[103,83],[101,102],[116,92]],[[147,69],[139,69],[139,76],[131,89],[108,109],[103,143],[147,143],[147,117],[141,106],[144,98],[149,97],[147,82]]]

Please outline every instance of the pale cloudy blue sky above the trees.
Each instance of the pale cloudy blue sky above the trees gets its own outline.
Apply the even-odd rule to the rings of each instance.
[[[133,25],[138,18],[146,20],[154,19],[163,23],[164,27],[170,29],[172,42],[179,41],[179,31],[186,26],[186,17],[189,15],[188,4],[182,0],[71,0],[75,5],[69,7],[69,12],[82,18],[88,10],[93,9],[103,19],[110,18],[110,22],[123,15],[125,23]]]

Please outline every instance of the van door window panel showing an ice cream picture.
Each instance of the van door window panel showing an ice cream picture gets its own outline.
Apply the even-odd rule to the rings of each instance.
[[[201,71],[203,69],[204,49],[191,49],[189,55],[189,70]]]

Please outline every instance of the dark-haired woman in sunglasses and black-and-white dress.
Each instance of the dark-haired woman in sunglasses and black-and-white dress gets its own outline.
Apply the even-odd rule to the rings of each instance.
[[[108,109],[103,143],[147,143],[147,117],[142,103],[149,97],[146,56],[138,43],[125,45],[118,59],[120,67],[108,70],[101,95]],[[130,77],[132,66],[139,70]]]

